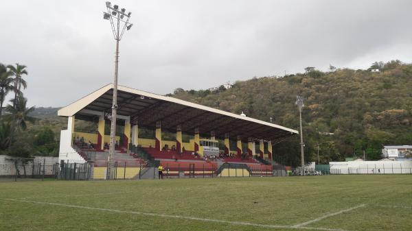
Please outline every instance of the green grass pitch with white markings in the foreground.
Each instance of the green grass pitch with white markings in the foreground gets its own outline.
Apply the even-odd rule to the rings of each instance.
[[[0,230],[412,230],[412,175],[3,182]]]

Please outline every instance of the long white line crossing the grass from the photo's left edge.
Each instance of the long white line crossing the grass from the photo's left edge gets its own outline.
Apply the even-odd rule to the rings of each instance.
[[[214,222],[214,223],[229,223],[231,225],[237,226],[255,226],[260,228],[275,228],[275,229],[295,229],[295,230],[326,230],[326,231],[349,231],[349,230],[341,230],[341,229],[334,229],[334,228],[309,228],[309,227],[294,227],[294,226],[277,226],[277,225],[264,225],[260,223],[249,223],[249,222],[242,222],[242,221],[225,221],[225,220],[218,220],[218,219],[207,219],[207,218],[199,218],[199,217],[185,217],[185,216],[178,216],[178,215],[165,215],[165,214],[158,214],[152,212],[135,212],[135,211],[125,211],[125,210],[115,210],[109,208],[95,208],[95,207],[88,207],[88,206],[76,206],[71,204],[59,204],[59,203],[49,203],[49,202],[33,202],[27,201],[22,199],[3,199],[4,201],[11,201],[11,202],[25,202],[25,203],[32,203],[32,204],[45,204],[50,206],[64,206],[68,208],[82,208],[82,209],[90,209],[90,210],[99,210],[104,212],[117,212],[117,213],[126,213],[132,215],[145,215],[151,217],[165,217],[165,218],[176,218],[176,219],[186,219],[186,220],[194,220],[194,221],[205,221],[205,222]]]

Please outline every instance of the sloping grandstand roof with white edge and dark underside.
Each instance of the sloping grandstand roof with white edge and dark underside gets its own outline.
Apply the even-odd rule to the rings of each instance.
[[[95,121],[95,115],[89,111],[111,113],[113,84],[108,84],[82,97],[78,101],[58,110],[58,115],[77,119]],[[248,137],[264,139],[277,143],[289,136],[298,134],[297,130],[253,119],[238,114],[209,108],[173,97],[165,97],[126,86],[118,86],[117,114],[130,116],[131,123],[139,127],[153,129],[161,121],[163,131],[176,132],[176,126],[182,125],[182,132],[193,134],[199,127],[201,136],[209,136],[215,131],[216,138],[241,136],[242,141]]]

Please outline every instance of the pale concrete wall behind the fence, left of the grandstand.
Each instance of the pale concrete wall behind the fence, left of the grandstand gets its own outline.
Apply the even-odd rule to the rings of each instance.
[[[16,167],[14,165],[14,160],[10,158],[12,158],[12,156],[0,155],[0,176],[16,175]],[[41,174],[43,174],[43,162],[45,162],[45,175],[52,175],[54,164],[58,163],[58,157],[35,156],[34,160],[27,161],[24,167],[21,161],[17,162],[17,167],[21,175],[24,174],[24,169],[26,171],[26,175],[32,175],[33,170],[34,175],[38,175],[39,167],[41,167]]]

